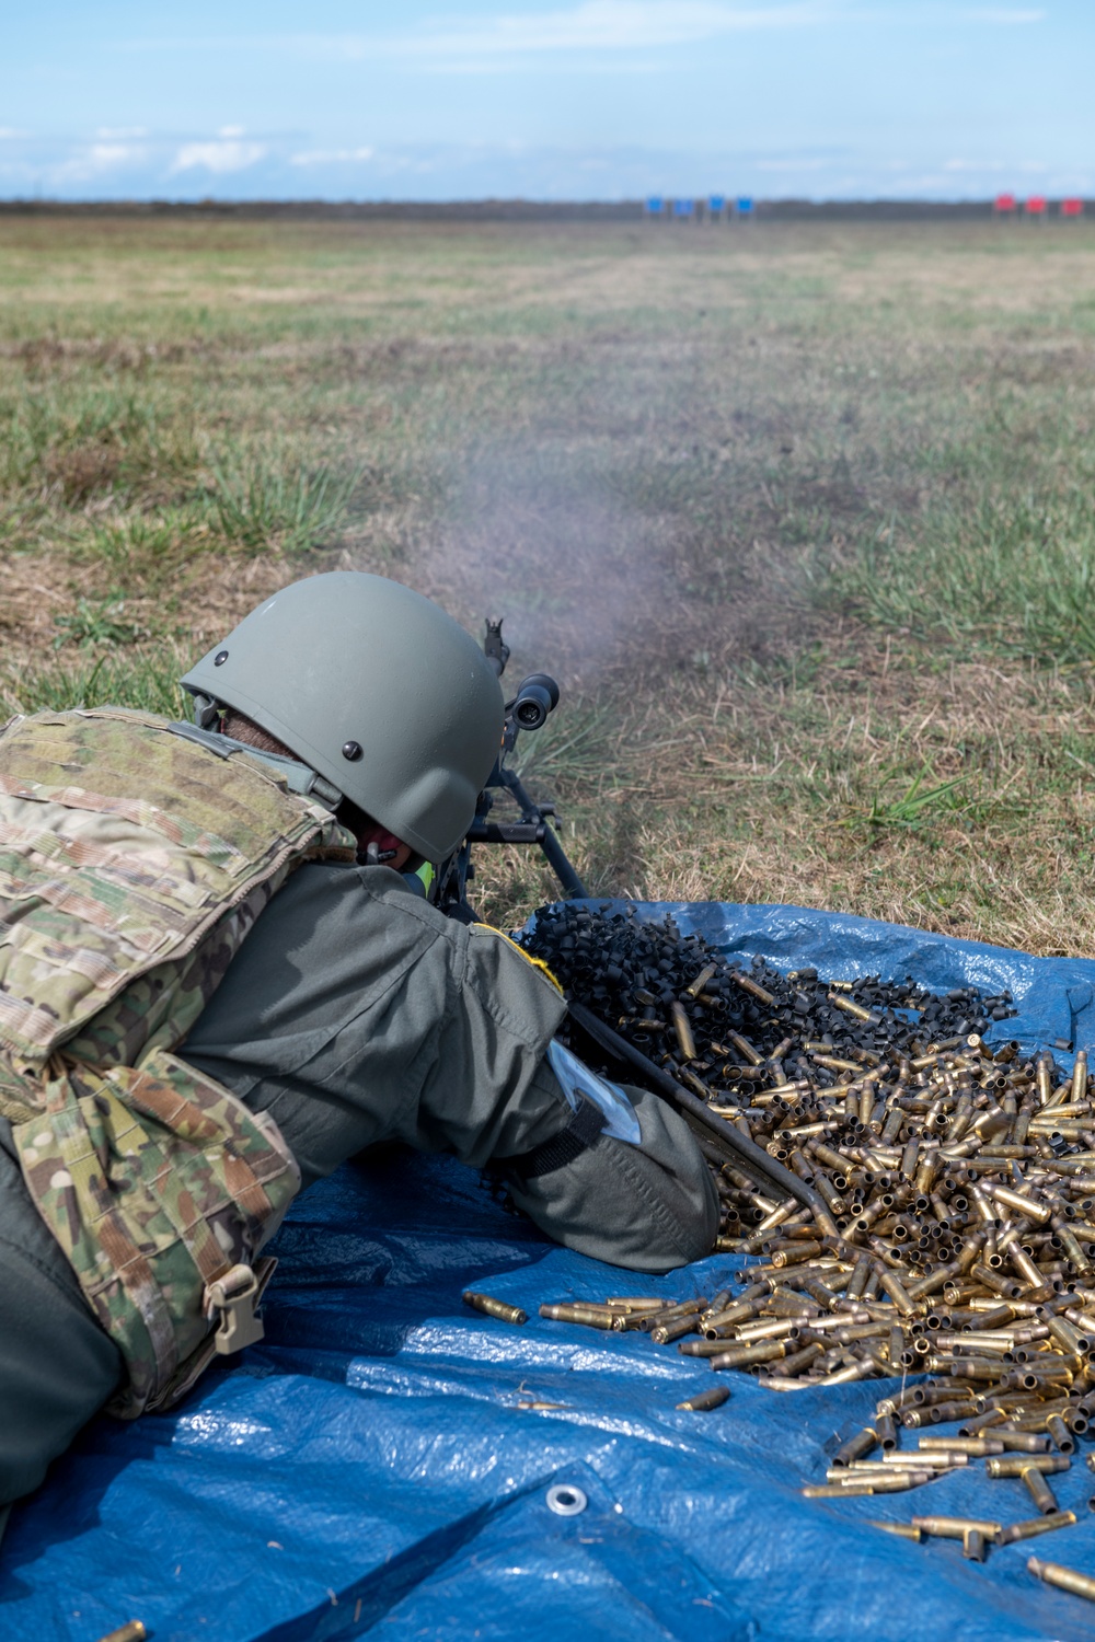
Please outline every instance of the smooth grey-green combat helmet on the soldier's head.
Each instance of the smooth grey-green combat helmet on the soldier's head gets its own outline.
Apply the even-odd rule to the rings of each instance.
[[[181,680],[204,727],[235,708],[425,860],[451,854],[497,755],[491,663],[451,616],[358,570],[245,616]]]

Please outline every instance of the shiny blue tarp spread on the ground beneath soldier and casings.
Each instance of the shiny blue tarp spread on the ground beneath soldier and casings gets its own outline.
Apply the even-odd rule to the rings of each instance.
[[[1010,987],[1021,1013],[996,1038],[1095,1049],[1095,962],[795,906],[640,908],[665,911],[781,969]],[[1018,1520],[1033,1514],[1021,1483],[978,1466],[914,1496],[798,1491],[885,1383],[777,1394],[731,1374],[727,1404],[681,1414],[711,1384],[704,1363],[537,1315],[542,1300],[711,1294],[726,1256],[621,1276],[550,1245],[451,1159],[405,1151],[312,1190],[276,1251],[263,1346],[171,1415],[97,1420],[16,1509],[5,1642],[94,1642],[131,1617],[156,1642],[1095,1642],[1095,1606],[1026,1571],[1031,1550],[1095,1571],[1082,1463],[1052,1479],[1077,1527],[967,1563],[870,1519]],[[524,1305],[527,1327],[470,1312],[468,1286]],[[586,1509],[553,1514],[553,1484],[581,1488]]]

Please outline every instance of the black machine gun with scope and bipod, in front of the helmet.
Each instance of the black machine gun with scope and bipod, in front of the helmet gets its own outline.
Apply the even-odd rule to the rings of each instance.
[[[497,619],[488,616],[483,650],[501,678],[509,660],[509,645],[502,639],[501,616]],[[588,893],[558,841],[555,806],[538,805],[530,798],[517,772],[511,770],[506,762],[517,745],[517,736],[522,731],[530,736],[537,729],[542,729],[557,704],[558,685],[548,673],[530,673],[517,686],[517,695],[512,701],[506,703],[502,744],[486,787],[479,793],[474,819],[460,849],[448,857],[438,872],[437,905],[448,918],[458,918],[461,923],[476,923],[476,913],[468,903],[468,883],[474,878],[474,862],[471,860],[473,844],[535,844],[558,878],[563,900]],[[501,793],[509,793],[520,819],[491,819],[491,811]]]

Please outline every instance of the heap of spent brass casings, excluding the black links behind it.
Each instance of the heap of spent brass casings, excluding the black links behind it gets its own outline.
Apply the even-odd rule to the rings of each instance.
[[[888,1409],[909,1429],[964,1420],[1046,1432],[1061,1452],[1095,1412],[1095,1092],[1087,1057],[934,1046],[855,1085],[754,1095],[734,1121],[811,1182],[836,1236],[795,1199],[717,1171],[721,1246],[747,1287],[671,1307],[548,1309],[647,1325],[712,1369],[775,1391],[929,1374]],[[1092,1218],[1088,1218],[1092,1217]],[[900,1409],[900,1412],[898,1412]]]

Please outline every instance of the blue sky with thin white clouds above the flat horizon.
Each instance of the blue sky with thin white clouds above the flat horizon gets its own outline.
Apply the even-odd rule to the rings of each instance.
[[[1095,5],[10,5],[0,197],[1095,194]]]

